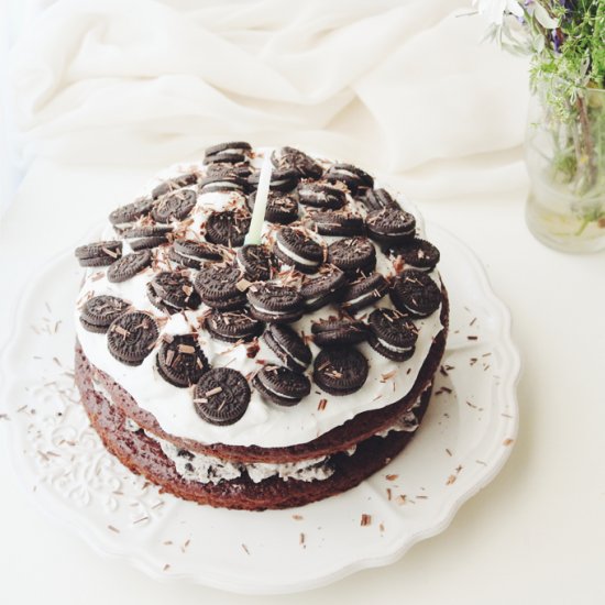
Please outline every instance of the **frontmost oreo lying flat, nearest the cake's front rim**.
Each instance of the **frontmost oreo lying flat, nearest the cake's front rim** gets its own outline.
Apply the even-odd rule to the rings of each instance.
[[[198,416],[211,425],[233,425],[250,404],[250,386],[244,376],[231,367],[215,367],[202,374],[194,391]]]

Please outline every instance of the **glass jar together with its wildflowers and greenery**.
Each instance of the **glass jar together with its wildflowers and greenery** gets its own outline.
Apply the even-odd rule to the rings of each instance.
[[[527,222],[552,248],[605,249],[605,0],[475,0],[486,37],[531,55]]]

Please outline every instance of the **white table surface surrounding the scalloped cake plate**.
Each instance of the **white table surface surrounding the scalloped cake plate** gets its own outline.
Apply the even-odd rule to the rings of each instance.
[[[31,272],[128,201],[153,172],[34,165],[0,224],[4,326]],[[32,194],[36,183],[45,183],[44,198]],[[100,558],[41,516],[2,452],[2,602],[605,603],[605,254],[563,255],[536,242],[524,222],[526,187],[519,182],[481,198],[419,200],[428,219],[483,260],[512,310],[524,366],[520,432],[512,457],[443,534],[391,566],[310,593],[246,597],[160,584]],[[67,204],[66,190],[80,193],[80,202]],[[6,336],[0,328],[0,342]]]

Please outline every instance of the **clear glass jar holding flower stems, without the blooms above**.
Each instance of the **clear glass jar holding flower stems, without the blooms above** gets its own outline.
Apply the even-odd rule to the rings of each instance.
[[[525,156],[531,233],[563,252],[605,250],[605,90],[542,85],[530,103]]]

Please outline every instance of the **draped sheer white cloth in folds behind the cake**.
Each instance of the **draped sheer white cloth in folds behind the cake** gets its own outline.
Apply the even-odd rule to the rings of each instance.
[[[527,64],[480,43],[470,4],[55,0],[13,50],[22,158],[163,165],[243,139],[398,175],[420,198],[508,187]]]

